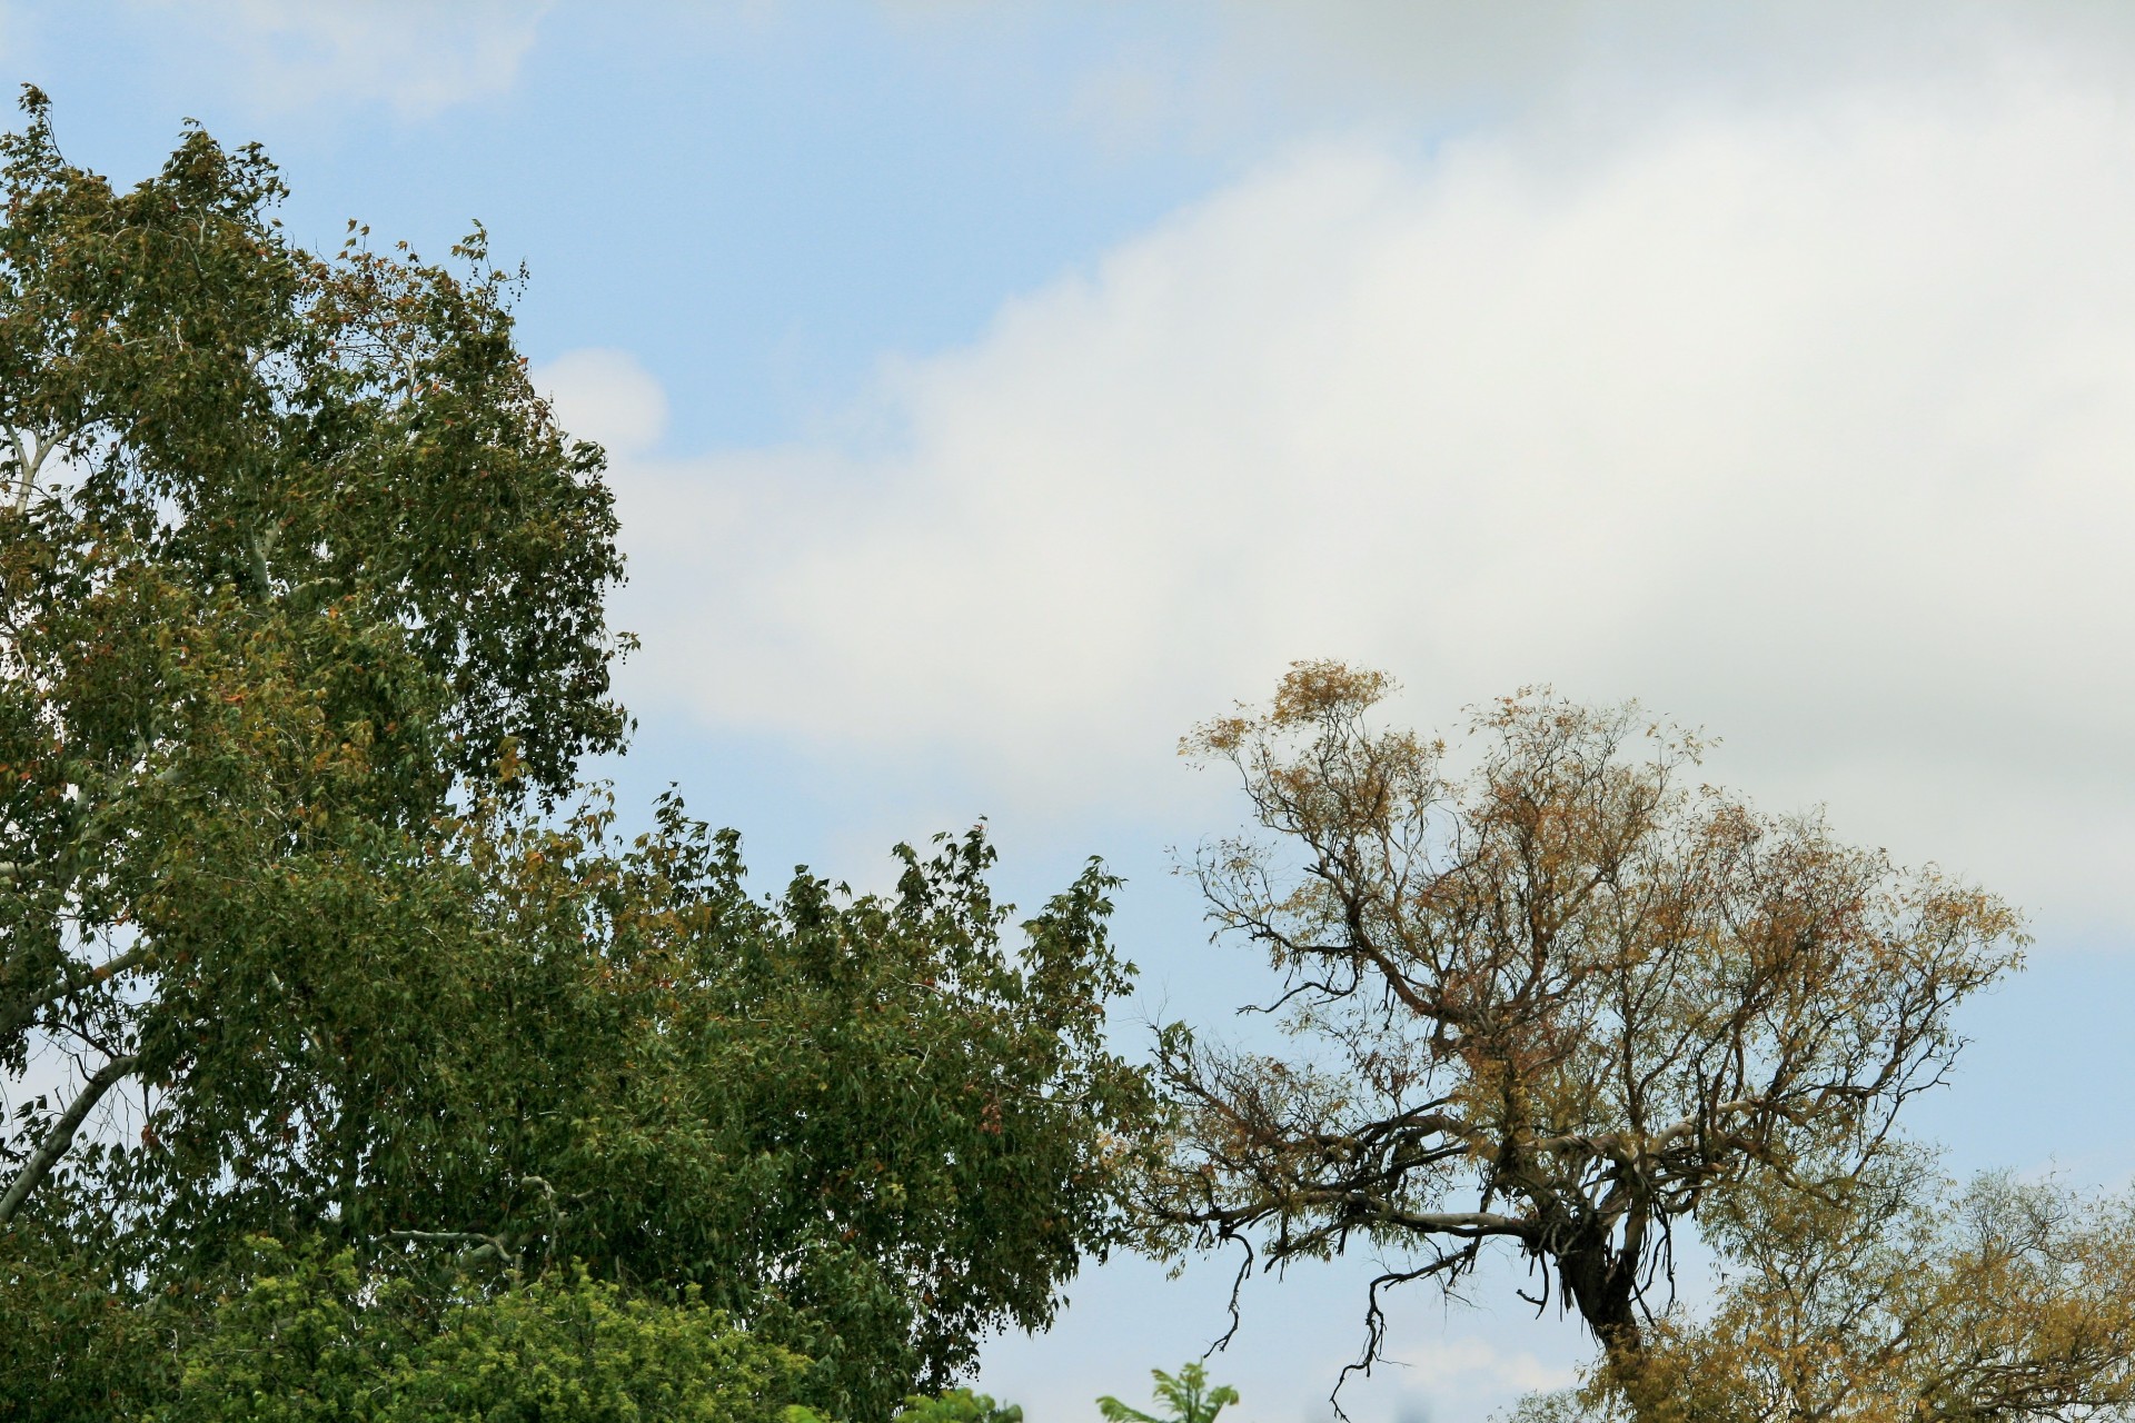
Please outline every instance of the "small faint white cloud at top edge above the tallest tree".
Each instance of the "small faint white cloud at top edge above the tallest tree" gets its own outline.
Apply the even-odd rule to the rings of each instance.
[[[145,0],[171,9],[171,0]],[[188,34],[211,32],[258,102],[382,102],[401,117],[504,94],[551,0],[211,0]]]

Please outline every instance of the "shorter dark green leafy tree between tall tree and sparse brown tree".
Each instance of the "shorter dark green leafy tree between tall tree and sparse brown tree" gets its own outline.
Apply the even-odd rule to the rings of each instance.
[[[397,1035],[427,1073],[339,1088],[380,1148],[365,1229],[698,1284],[811,1355],[816,1397],[852,1417],[944,1387],[1001,1323],[1042,1327],[1123,1229],[1146,1112],[1100,1039],[1127,973],[1112,881],[1091,866],[1014,952],[978,834],[901,851],[892,896],[803,875],[775,902],[675,800],[628,849],[604,836],[598,811],[465,828],[485,888],[457,937],[493,945],[468,981],[515,1009],[410,1001]],[[243,1208],[301,1210],[329,1176]]]

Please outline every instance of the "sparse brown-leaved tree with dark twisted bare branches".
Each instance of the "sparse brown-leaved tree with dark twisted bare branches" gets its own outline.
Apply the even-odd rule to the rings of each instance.
[[[1381,1291],[1452,1289],[1503,1242],[1635,1397],[1674,1227],[1746,1184],[1843,1190],[1947,1071],[1951,1007],[2018,962],[2018,915],[1695,785],[1697,738],[1635,706],[1507,698],[1454,774],[1369,723],[1390,687],[1298,663],[1183,745],[1275,832],[1196,868],[1304,1050],[1159,1037],[1155,1240],[1396,1259],[1366,1370]]]

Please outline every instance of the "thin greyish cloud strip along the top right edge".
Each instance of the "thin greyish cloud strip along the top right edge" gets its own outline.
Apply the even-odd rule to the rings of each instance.
[[[1044,36],[1080,64],[1065,92],[1027,81],[1025,102],[1106,149],[1202,158],[1356,126],[1456,132],[1535,107],[1591,143],[1714,98],[1986,81],[2020,51],[2107,81],[2135,62],[2135,9],[2097,0],[1172,0],[1112,32],[1059,0],[880,4],[939,34]]]

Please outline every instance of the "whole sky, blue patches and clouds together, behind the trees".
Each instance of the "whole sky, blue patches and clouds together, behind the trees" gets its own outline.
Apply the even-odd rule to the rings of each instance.
[[[0,0],[0,75],[120,181],[192,117],[303,241],[527,262],[643,636],[600,772],[766,888],[978,817],[1025,905],[1102,853],[1134,1050],[1266,988],[1172,873],[1240,819],[1198,719],[1304,657],[1422,728],[1638,698],[2030,913],[1921,1135],[2135,1171],[2135,11]],[[1251,1282],[1240,1423],[1328,1417],[1360,1269]],[[1228,1280],[1095,1267],[980,1385],[1093,1419]],[[1349,1414],[1569,1378],[1520,1282],[1407,1301]]]

